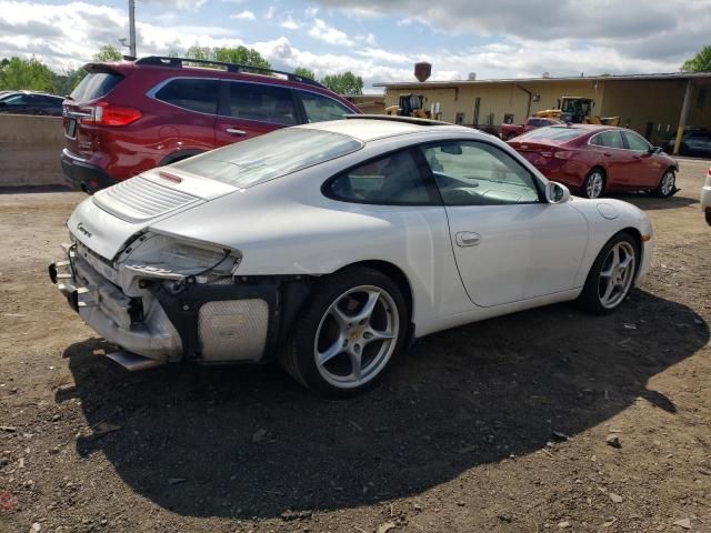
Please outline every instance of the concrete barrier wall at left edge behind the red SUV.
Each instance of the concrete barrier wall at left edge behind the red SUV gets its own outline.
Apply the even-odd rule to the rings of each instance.
[[[0,188],[63,185],[61,117],[0,114]]]

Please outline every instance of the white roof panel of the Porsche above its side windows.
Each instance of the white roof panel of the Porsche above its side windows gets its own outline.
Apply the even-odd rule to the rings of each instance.
[[[357,118],[358,117],[358,118]],[[343,135],[352,137],[362,142],[374,141],[377,139],[385,139],[397,135],[405,135],[413,133],[425,132],[461,132],[467,135],[480,134],[488,137],[487,133],[482,133],[472,128],[464,128],[462,125],[448,124],[444,122],[422,121],[422,120],[403,120],[403,117],[380,115],[380,117],[364,117],[353,115],[348,120],[332,120],[329,122],[313,122],[310,124],[301,124],[294,128],[303,128],[311,130],[330,131],[333,133],[340,133]]]

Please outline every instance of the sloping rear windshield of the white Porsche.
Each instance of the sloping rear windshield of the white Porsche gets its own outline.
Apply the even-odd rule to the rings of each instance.
[[[361,147],[360,141],[340,133],[291,128],[229,144],[172,167],[247,189],[340,158]]]

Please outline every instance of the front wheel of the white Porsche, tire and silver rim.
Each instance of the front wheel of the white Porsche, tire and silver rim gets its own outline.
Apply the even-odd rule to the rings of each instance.
[[[634,239],[629,233],[618,233],[592,263],[578,303],[594,314],[611,313],[630,292],[638,263]]]

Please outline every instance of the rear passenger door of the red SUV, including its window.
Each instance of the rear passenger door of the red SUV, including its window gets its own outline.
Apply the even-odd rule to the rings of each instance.
[[[218,147],[298,123],[294,99],[286,87],[237,80],[223,80],[221,86]]]

